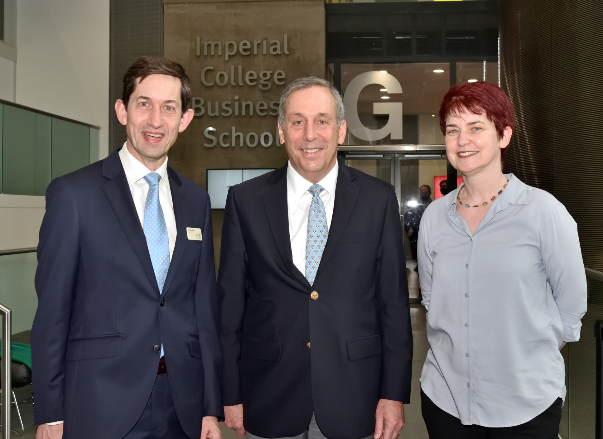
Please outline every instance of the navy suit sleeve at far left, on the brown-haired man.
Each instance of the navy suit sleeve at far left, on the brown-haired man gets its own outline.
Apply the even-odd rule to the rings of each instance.
[[[65,418],[65,352],[80,261],[80,226],[72,188],[57,178],[46,190],[37,247],[38,307],[31,328],[34,422]]]

